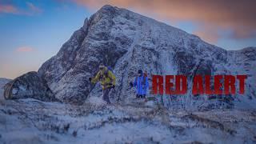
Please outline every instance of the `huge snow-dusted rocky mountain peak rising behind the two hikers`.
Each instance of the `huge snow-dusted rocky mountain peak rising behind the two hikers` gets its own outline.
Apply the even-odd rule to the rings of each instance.
[[[256,49],[252,47],[223,50],[198,36],[130,10],[103,6],[86,18],[82,28],[74,32],[58,54],[42,65],[38,76],[46,80],[54,96],[62,102],[81,103],[89,95],[100,94],[99,86],[90,86],[88,78],[102,62],[113,67],[118,81],[117,95],[122,102],[129,102],[134,94],[129,82],[138,69],[148,74],[186,74],[189,89],[194,74],[247,74],[246,99],[254,99],[255,56]],[[164,98],[169,102],[165,105],[170,105],[171,97]],[[219,96],[216,102],[223,102],[223,98]],[[201,106],[209,97],[196,98],[188,93],[182,99],[182,105],[189,103],[189,106],[194,105],[194,100],[196,103],[202,100]],[[224,101],[234,105],[231,97],[225,97]]]

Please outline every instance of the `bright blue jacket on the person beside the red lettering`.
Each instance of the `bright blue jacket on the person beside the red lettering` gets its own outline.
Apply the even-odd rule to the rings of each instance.
[[[136,81],[137,80],[137,81]],[[141,77],[136,77],[134,79],[134,87],[136,87],[136,93],[139,95],[143,95],[146,94],[146,89],[149,87],[149,82],[147,80],[147,77],[145,79],[145,83],[144,82],[144,76]]]

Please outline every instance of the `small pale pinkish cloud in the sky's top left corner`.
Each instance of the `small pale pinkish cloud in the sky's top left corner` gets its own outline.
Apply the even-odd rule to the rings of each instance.
[[[18,14],[18,15],[34,15],[42,13],[42,9],[38,6],[34,6],[31,2],[26,2],[26,8],[22,9],[19,6],[15,6],[12,3],[4,4],[0,2],[0,14]]]

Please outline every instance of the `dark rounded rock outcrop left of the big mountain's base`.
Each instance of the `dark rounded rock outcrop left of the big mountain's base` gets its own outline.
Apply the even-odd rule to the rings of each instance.
[[[4,86],[6,99],[35,98],[42,101],[57,101],[46,81],[37,72],[29,72],[15,78]]]

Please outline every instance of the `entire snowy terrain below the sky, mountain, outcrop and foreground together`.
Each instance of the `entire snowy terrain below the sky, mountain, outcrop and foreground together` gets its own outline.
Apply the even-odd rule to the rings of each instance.
[[[111,106],[102,102],[101,87],[88,82],[102,62],[117,76]],[[103,6],[38,72],[1,79],[7,84],[0,94],[0,142],[254,143],[255,66],[254,47],[224,50],[130,10]],[[129,82],[138,69],[186,74],[189,93],[134,100]],[[194,96],[194,74],[246,74],[246,94]],[[147,96],[153,97],[150,90]]]

